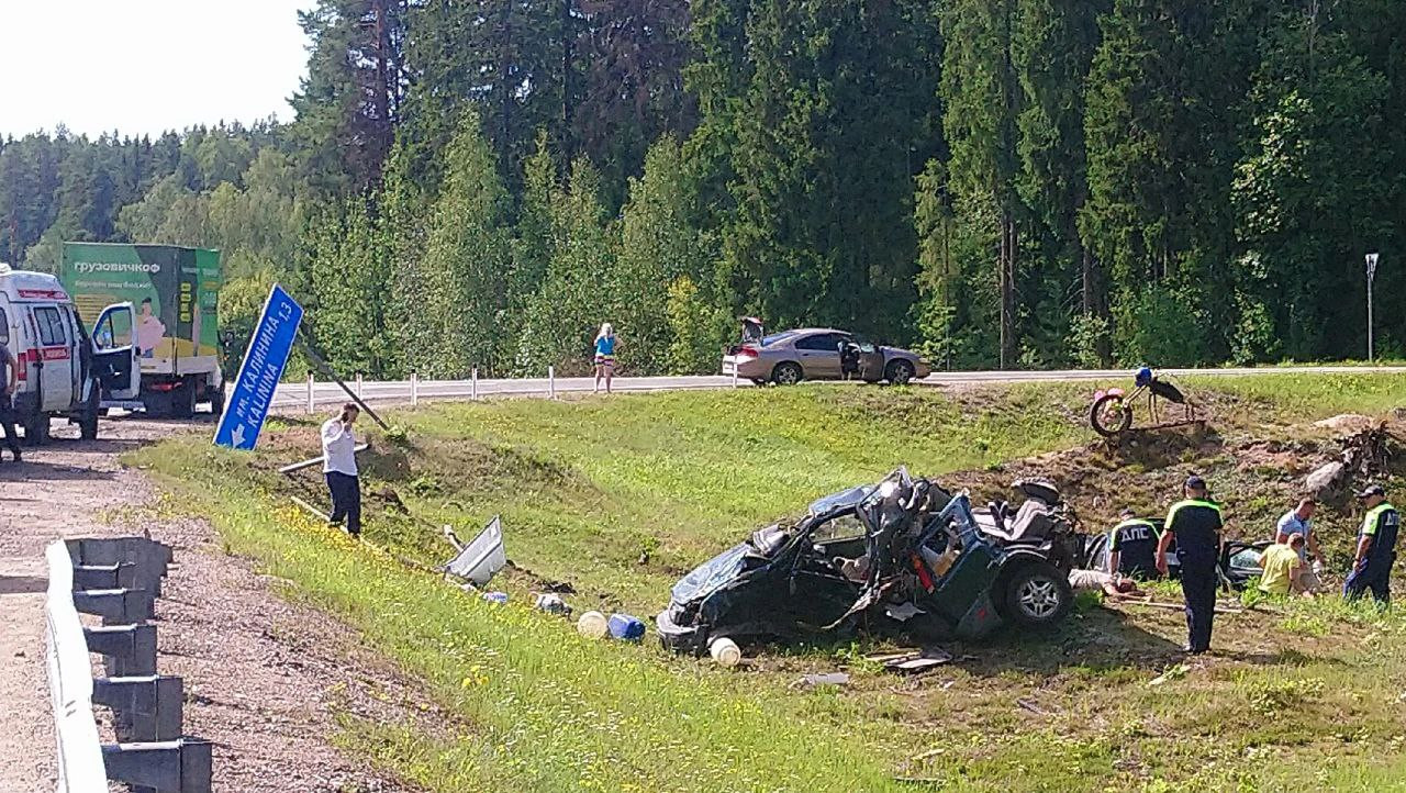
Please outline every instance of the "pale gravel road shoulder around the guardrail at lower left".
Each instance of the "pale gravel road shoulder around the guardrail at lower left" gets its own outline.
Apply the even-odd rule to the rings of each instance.
[[[58,429],[58,427],[56,427]],[[333,747],[337,713],[381,723],[446,721],[413,681],[356,631],[276,595],[277,582],[226,554],[204,520],[157,517],[157,495],[121,451],[184,426],[104,423],[105,440],[60,434],[0,465],[0,790],[52,790],[44,679],[44,547],[58,537],[150,531],[174,548],[157,600],[157,668],[186,683],[186,731],[215,744],[215,789],[418,790]],[[201,432],[205,432],[202,427]],[[24,585],[31,582],[32,585]],[[42,749],[38,749],[42,747]]]

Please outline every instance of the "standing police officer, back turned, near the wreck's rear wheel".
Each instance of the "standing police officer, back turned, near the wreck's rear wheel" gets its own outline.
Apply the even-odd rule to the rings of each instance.
[[[1157,541],[1157,572],[1167,575],[1167,546],[1177,539],[1181,593],[1187,599],[1187,652],[1211,650],[1216,610],[1216,568],[1220,564],[1220,506],[1206,496],[1206,481],[1188,477],[1182,498],[1171,505]]]

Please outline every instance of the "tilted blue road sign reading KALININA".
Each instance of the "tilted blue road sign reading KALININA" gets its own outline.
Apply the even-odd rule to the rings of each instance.
[[[235,389],[225,398],[225,412],[215,427],[215,446],[253,449],[259,430],[269,416],[273,392],[283,378],[292,339],[302,322],[302,307],[278,284],[273,285],[259,326],[249,340],[245,361],[239,364]]]

